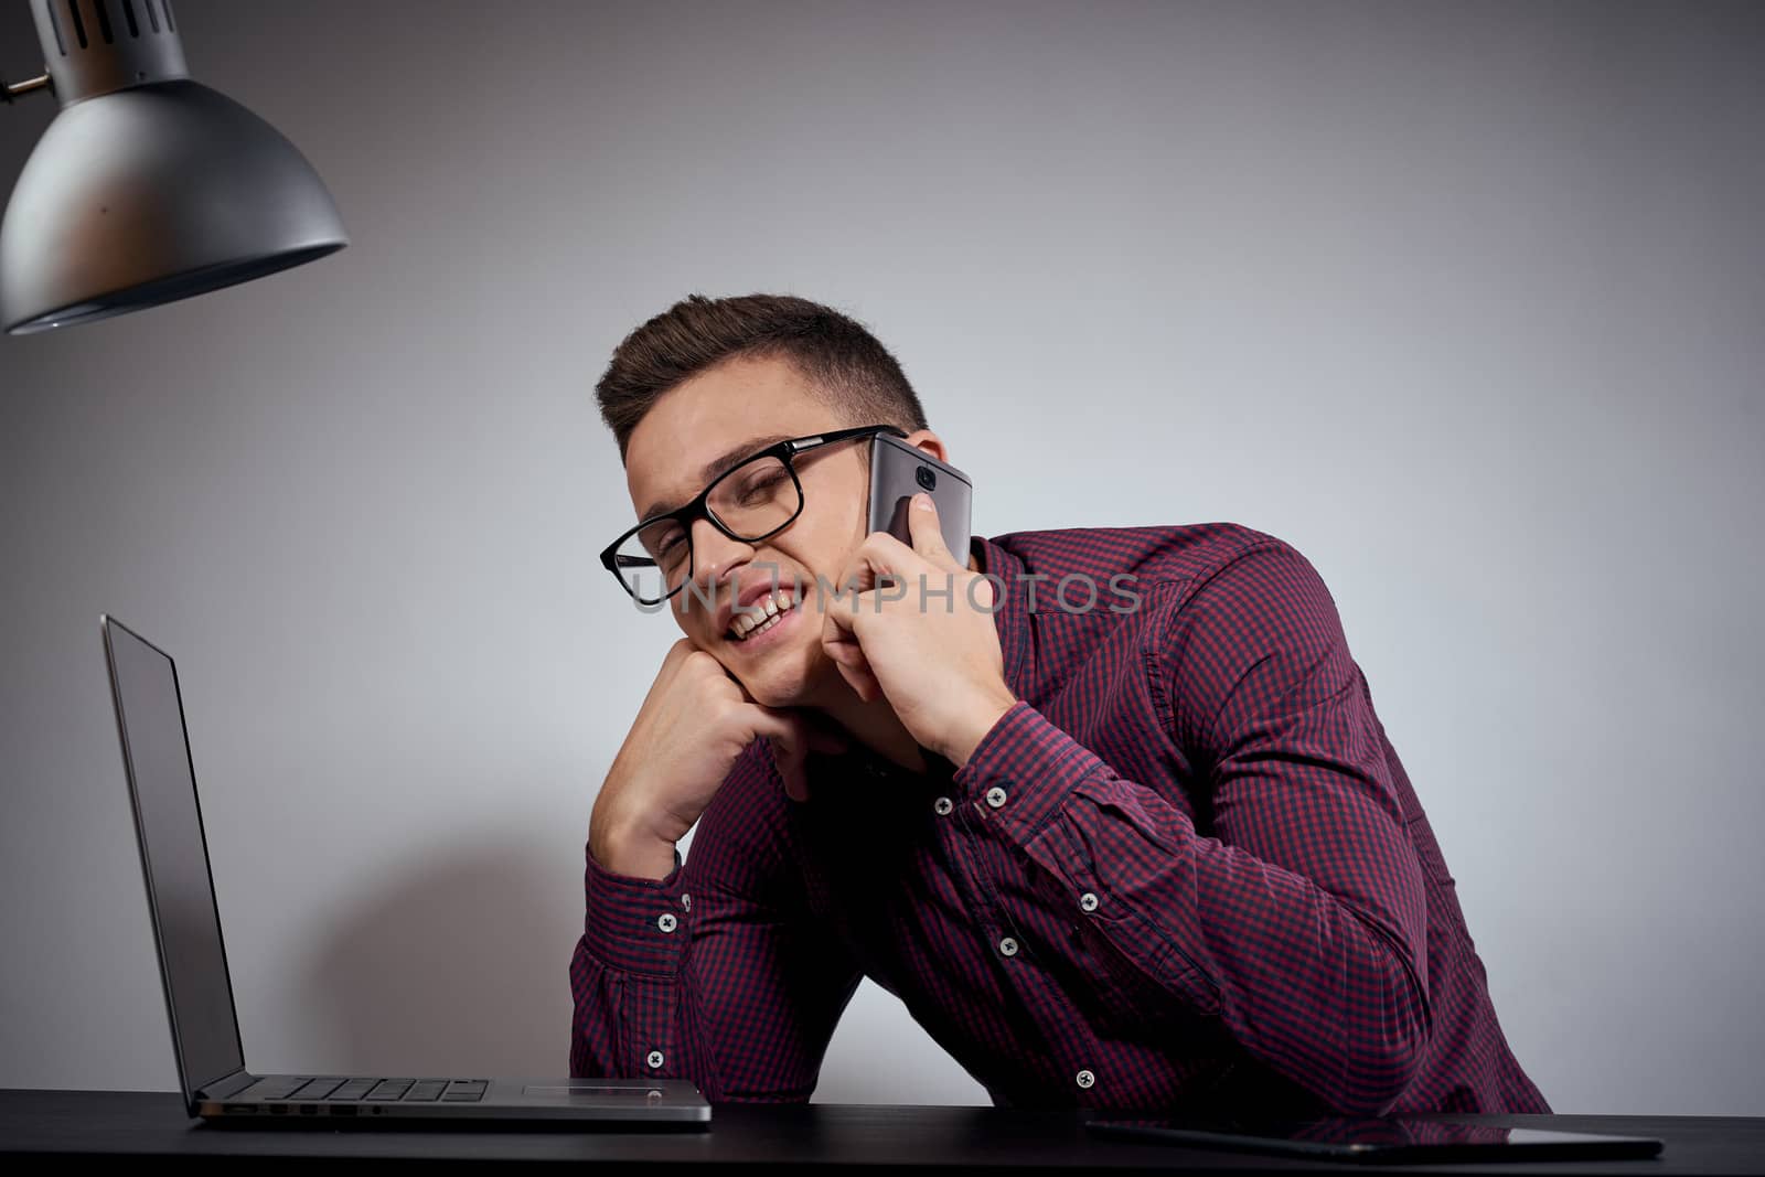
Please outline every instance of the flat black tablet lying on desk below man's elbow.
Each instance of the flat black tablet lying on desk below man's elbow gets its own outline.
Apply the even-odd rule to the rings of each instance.
[[[1142,1143],[1274,1152],[1311,1159],[1371,1165],[1426,1161],[1588,1161],[1650,1158],[1661,1152],[1649,1136],[1604,1136],[1543,1128],[1456,1124],[1405,1117],[1320,1117],[1255,1121],[1183,1115],[1098,1115],[1085,1131]]]

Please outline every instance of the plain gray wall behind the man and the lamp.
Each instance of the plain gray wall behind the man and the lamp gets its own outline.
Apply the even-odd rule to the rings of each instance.
[[[595,563],[593,381],[787,289],[897,351],[976,531],[1296,544],[1555,1108],[1765,1113],[1765,5],[178,12],[355,244],[0,339],[0,1085],[175,1085],[106,611],[180,658],[254,1066],[567,1068],[674,633]],[[987,1101],[868,983],[817,1099]]]

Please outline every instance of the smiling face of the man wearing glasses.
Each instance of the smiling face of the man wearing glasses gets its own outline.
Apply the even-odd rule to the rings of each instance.
[[[872,424],[879,422],[838,420],[785,360],[729,360],[662,394],[632,431],[625,482],[634,517],[646,517],[658,503],[672,508],[690,501],[710,482],[702,476],[706,464],[732,448],[745,457],[762,448],[771,434],[805,438]],[[944,459],[943,443],[930,431],[911,434],[907,443]],[[845,561],[865,538],[868,473],[863,454],[868,445],[868,438],[838,441],[792,459],[803,484],[803,512],[773,536],[745,544],[718,531],[710,519],[692,524],[697,593],[690,584],[676,593],[667,602],[671,614],[755,702],[807,706],[844,686],[838,667],[821,653],[826,605],[815,579],[840,584]],[[738,591],[775,582],[789,591],[792,581],[800,589],[798,605],[770,632],[738,641],[718,626],[718,609]],[[713,607],[708,609],[706,600]]]

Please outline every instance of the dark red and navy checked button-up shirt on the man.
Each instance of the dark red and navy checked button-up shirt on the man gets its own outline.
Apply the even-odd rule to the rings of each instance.
[[[1018,702],[958,771],[815,753],[807,803],[755,741],[667,879],[590,856],[572,1075],[807,1101],[868,976],[999,1106],[1550,1112],[1304,556],[971,551]]]

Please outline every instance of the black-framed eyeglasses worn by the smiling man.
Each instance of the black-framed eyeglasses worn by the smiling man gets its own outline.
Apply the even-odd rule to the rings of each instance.
[[[699,498],[644,519],[607,545],[600,563],[639,605],[660,605],[692,579],[692,524],[702,515],[731,540],[757,544],[791,526],[803,514],[803,484],[796,457],[837,441],[907,431],[895,425],[860,425],[778,441],[752,454],[711,480]]]

